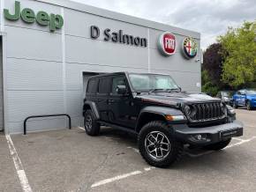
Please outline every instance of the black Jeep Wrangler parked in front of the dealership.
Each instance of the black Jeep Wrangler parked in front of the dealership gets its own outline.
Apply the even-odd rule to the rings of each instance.
[[[232,107],[207,94],[181,91],[168,75],[118,72],[89,78],[83,114],[89,136],[101,125],[138,135],[141,156],[169,166],[184,144],[221,150],[243,135]]]

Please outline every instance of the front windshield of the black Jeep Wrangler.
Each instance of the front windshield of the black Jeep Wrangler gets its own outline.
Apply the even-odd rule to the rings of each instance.
[[[136,92],[179,90],[175,81],[167,75],[129,74]]]

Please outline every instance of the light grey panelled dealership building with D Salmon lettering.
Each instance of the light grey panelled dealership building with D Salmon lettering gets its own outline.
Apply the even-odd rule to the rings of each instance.
[[[200,92],[200,33],[66,0],[1,0],[0,129],[69,114],[83,126],[87,79],[116,71],[169,74]],[[27,131],[64,129],[64,116]]]

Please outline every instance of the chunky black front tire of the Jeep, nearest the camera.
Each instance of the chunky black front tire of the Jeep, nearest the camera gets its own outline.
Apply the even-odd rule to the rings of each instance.
[[[155,159],[147,150],[147,136],[154,132],[162,133],[162,136],[168,138],[169,141],[169,153],[162,159]],[[143,159],[145,159],[149,165],[157,167],[167,167],[177,162],[177,160],[181,158],[184,149],[183,144],[178,142],[175,137],[173,137],[171,127],[169,127],[169,125],[167,125],[165,122],[160,121],[148,122],[145,126],[143,126],[143,128],[139,131],[138,144],[139,152]]]

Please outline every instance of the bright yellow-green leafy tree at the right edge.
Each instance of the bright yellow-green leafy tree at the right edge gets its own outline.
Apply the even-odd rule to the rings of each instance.
[[[222,44],[222,82],[234,88],[253,85],[256,81],[256,33],[252,23],[245,22],[240,28],[230,27],[218,38]]]

